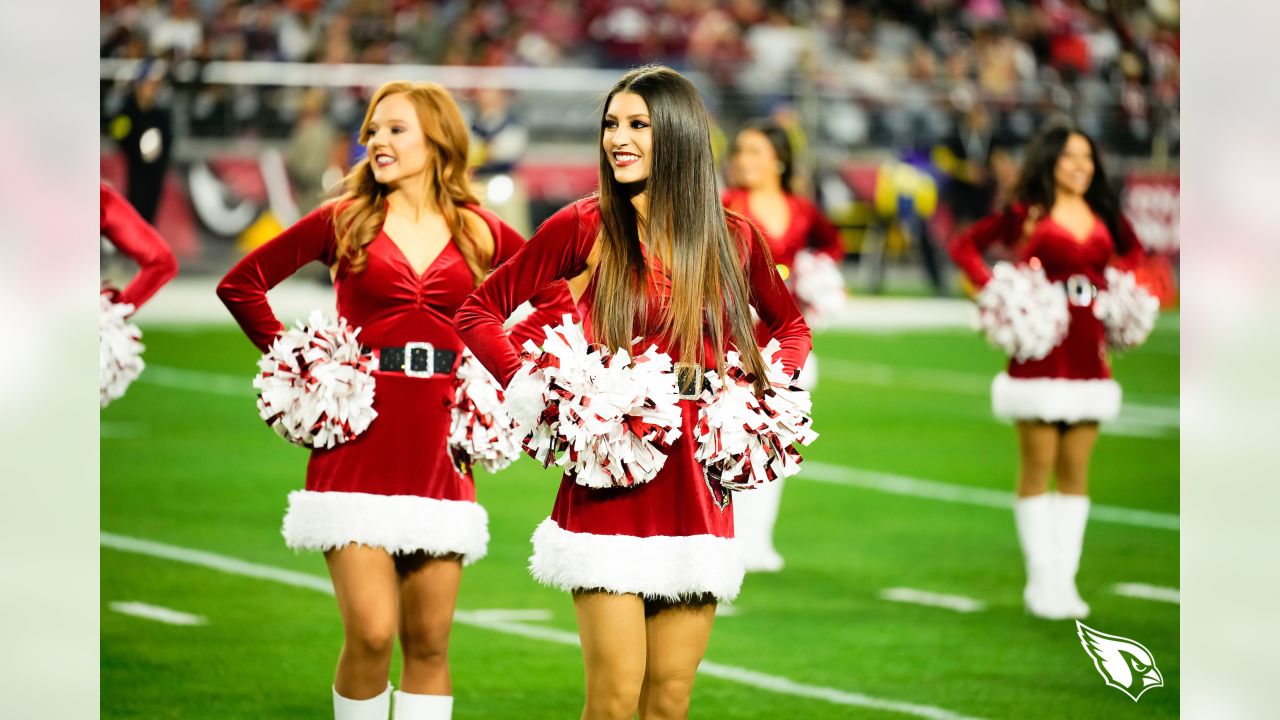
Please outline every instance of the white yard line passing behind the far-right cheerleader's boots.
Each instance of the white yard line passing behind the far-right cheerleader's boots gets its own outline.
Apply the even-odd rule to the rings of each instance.
[[[895,475],[892,473],[879,473],[876,470],[860,470],[858,468],[845,468],[842,465],[829,465],[806,460],[800,466],[797,478],[829,483],[836,486],[873,489],[892,495],[909,497],[925,497],[941,500],[943,502],[956,502],[960,505],[980,505],[983,507],[1000,507],[1011,510],[1014,506],[1014,493],[957,486],[954,483],[940,483]],[[1094,503],[1089,509],[1089,519],[1100,523],[1115,523],[1119,525],[1137,525],[1142,528],[1160,528],[1164,530],[1179,529],[1179,516],[1171,512],[1156,512],[1152,510],[1134,510],[1130,507],[1115,507],[1111,505]]]

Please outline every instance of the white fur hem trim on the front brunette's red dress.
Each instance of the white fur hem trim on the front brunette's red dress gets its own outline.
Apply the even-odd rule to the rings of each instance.
[[[534,532],[534,579],[562,591],[604,589],[681,601],[710,593],[730,602],[742,588],[732,538],[571,533],[548,518]]]

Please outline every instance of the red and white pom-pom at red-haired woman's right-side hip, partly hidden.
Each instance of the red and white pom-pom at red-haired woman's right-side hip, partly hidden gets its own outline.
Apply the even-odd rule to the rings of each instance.
[[[507,415],[502,387],[468,350],[462,351],[454,388],[449,420],[449,452],[454,462],[480,465],[490,473],[515,462],[521,437]]]

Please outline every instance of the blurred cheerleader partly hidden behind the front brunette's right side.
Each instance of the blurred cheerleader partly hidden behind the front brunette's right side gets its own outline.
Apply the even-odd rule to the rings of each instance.
[[[791,140],[786,131],[768,120],[748,123],[733,141],[730,172],[733,187],[724,191],[722,200],[724,208],[764,231],[778,272],[795,293],[796,286],[804,282],[796,274],[796,255],[800,251],[823,255],[838,268],[845,249],[840,231],[822,210],[809,200],[792,195],[792,168]],[[800,297],[796,302],[803,306]],[[756,342],[763,347],[768,341],[768,328],[758,325]],[[813,389],[817,383],[818,357],[809,355],[796,384]],[[782,556],[773,547],[782,484],[780,478],[737,497],[735,534],[742,547],[748,573],[782,570]]]

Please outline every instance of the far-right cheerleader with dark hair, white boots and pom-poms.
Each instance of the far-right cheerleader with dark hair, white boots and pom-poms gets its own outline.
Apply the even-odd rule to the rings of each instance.
[[[980,288],[982,329],[1010,355],[992,384],[992,406],[1018,423],[1014,518],[1027,562],[1027,611],[1084,618],[1089,606],[1075,573],[1089,512],[1089,456],[1098,423],[1120,413],[1107,347],[1140,342],[1156,305],[1124,272],[1140,263],[1142,245],[1089,136],[1065,124],[1044,128],[1027,150],[1014,197],[956,236],[951,256]],[[982,252],[992,246],[1004,246],[1014,264],[988,266]],[[1051,470],[1056,493],[1048,492]]]

